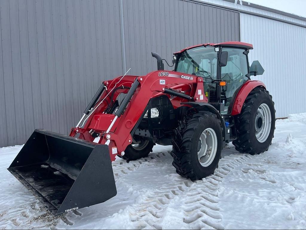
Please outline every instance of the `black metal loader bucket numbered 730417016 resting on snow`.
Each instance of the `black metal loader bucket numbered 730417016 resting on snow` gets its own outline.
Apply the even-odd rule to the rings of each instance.
[[[35,130],[8,168],[54,215],[117,194],[107,145]]]

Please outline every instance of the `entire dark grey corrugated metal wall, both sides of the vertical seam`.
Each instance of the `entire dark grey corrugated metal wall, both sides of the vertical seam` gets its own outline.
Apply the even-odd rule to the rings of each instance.
[[[68,134],[101,81],[155,70],[151,51],[171,63],[239,32],[239,13],[192,0],[1,0],[0,146]]]

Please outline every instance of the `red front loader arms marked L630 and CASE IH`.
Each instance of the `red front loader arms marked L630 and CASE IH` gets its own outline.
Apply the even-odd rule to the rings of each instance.
[[[110,81],[104,81],[107,90],[103,92],[99,100],[106,98],[106,102],[99,105],[93,114],[87,119],[84,127],[75,127],[72,129],[70,136],[75,137],[80,134],[79,138],[94,141],[99,144],[106,144],[109,147],[110,158],[115,160],[116,154],[121,154],[126,147],[132,143],[131,131],[142,119],[142,114],[149,102],[155,96],[161,94],[176,94],[188,101],[206,102],[208,99],[203,95],[203,80],[201,77],[183,74],[174,71],[154,71],[145,76],[125,76],[119,86],[122,92],[126,92],[125,99],[113,114],[105,113],[107,107],[114,102],[118,92],[110,98],[114,85],[120,77]],[[189,94],[179,93],[171,89],[179,85],[190,85]],[[133,87],[134,86],[134,87]],[[130,87],[130,89],[124,89]],[[115,95],[116,94],[116,95]],[[98,100],[98,101],[99,101]],[[104,112],[104,113],[103,113]],[[98,138],[93,137],[91,133],[99,134]]]

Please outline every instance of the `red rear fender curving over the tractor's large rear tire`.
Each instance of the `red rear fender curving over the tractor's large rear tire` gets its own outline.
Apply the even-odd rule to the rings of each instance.
[[[247,98],[249,93],[255,88],[266,89],[266,86],[262,81],[257,80],[248,80],[244,82],[240,89],[236,91],[237,94],[235,93],[236,95],[233,95],[233,97],[235,97],[235,100],[233,100],[233,104],[230,105],[231,115],[237,115],[241,112],[245,99]]]

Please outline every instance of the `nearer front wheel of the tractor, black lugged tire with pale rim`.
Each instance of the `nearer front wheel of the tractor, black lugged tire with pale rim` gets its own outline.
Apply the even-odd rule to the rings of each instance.
[[[204,149],[203,154],[202,149]],[[182,177],[191,180],[202,179],[215,172],[221,150],[220,120],[211,112],[196,113],[185,122],[181,121],[176,129],[171,152],[172,165]]]

